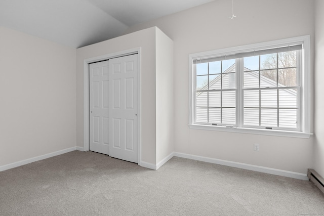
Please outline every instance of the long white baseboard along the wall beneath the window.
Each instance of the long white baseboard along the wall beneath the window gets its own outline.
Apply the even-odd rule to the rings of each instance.
[[[258,171],[258,172],[264,172],[266,174],[272,174],[272,175],[277,175],[277,176],[284,176],[284,177],[290,177],[290,178],[294,178],[294,179],[309,181],[307,174],[301,174],[299,172],[274,169],[274,168],[269,168],[269,167],[264,167],[264,166],[256,166],[256,165],[247,164],[247,163],[238,163],[238,162],[233,162],[233,161],[228,161],[228,160],[220,160],[220,159],[215,159],[215,158],[210,158],[210,157],[202,157],[202,156],[184,154],[184,153],[179,153],[179,152],[175,152],[174,156],[204,161],[204,162],[208,162],[208,163],[215,163],[215,164],[220,164],[220,165],[225,165],[225,166],[231,166],[231,167],[236,167],[236,168],[241,168],[241,169],[248,169],[248,170],[253,170],[253,171]]]

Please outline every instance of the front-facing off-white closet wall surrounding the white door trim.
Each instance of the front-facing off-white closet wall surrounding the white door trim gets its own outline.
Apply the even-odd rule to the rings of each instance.
[[[116,37],[76,50],[76,139],[84,146],[84,60],[141,47],[141,160],[156,163],[155,28]]]

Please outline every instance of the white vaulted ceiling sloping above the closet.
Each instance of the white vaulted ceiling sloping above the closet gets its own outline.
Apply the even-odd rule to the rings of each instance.
[[[0,0],[0,26],[79,48],[214,0]],[[1,36],[1,35],[0,35]]]

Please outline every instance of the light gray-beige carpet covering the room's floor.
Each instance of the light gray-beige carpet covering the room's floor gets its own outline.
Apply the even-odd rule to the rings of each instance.
[[[313,183],[173,157],[73,151],[0,172],[0,215],[324,215]]]

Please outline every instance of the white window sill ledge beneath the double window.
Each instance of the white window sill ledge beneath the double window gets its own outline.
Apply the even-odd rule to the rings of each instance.
[[[256,135],[279,136],[279,137],[294,137],[294,138],[305,138],[305,139],[309,139],[310,136],[312,135],[311,133],[304,133],[304,132],[278,131],[278,130],[242,128],[242,127],[224,127],[224,126],[203,125],[203,124],[190,124],[189,127],[191,129],[203,129],[208,131],[256,134]]]

